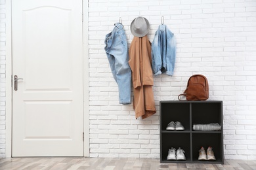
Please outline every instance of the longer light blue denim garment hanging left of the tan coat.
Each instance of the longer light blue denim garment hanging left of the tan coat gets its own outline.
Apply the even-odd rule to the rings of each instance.
[[[131,103],[131,68],[128,60],[128,46],[123,25],[116,23],[113,31],[106,35],[105,51],[110,68],[119,89],[119,103]]]

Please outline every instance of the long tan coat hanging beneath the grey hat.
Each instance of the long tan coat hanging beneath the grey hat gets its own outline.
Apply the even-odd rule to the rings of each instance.
[[[129,49],[129,65],[133,81],[135,117],[142,119],[156,113],[151,67],[151,44],[147,36],[134,37]]]

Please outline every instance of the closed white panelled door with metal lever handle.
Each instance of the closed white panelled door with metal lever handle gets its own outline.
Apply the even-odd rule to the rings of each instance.
[[[12,0],[12,156],[83,156],[82,37],[82,0]]]

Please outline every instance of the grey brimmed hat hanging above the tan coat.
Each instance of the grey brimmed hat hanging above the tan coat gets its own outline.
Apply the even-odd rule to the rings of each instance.
[[[144,37],[148,34],[150,24],[148,20],[142,16],[138,16],[131,22],[131,33],[135,37]]]

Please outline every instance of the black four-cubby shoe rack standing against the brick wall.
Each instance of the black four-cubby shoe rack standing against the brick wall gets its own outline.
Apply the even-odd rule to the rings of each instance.
[[[169,122],[181,122],[184,131],[166,130]],[[194,131],[193,124],[218,123],[221,131]],[[213,147],[216,161],[199,161],[201,146]],[[186,160],[167,160],[169,149],[181,147]],[[162,163],[224,163],[222,101],[160,101],[160,161]]]

